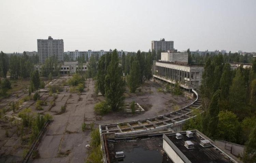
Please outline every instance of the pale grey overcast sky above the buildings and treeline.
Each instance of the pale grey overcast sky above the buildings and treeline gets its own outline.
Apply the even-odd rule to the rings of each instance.
[[[256,51],[256,0],[0,0],[0,51],[37,51],[63,39],[64,51],[174,48]]]

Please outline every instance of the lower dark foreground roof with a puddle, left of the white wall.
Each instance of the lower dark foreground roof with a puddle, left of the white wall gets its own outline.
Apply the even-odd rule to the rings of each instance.
[[[112,163],[173,163],[162,148],[162,135],[127,140],[107,140]],[[116,159],[116,152],[123,151],[125,157]]]

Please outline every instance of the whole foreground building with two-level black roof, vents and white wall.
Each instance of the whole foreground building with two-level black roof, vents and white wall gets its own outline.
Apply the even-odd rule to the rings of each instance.
[[[198,130],[101,136],[104,163],[241,163]]]

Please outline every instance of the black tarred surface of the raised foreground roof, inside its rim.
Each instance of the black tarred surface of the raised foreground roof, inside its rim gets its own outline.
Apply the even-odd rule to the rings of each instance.
[[[191,163],[234,163],[225,153],[215,146],[202,147],[200,141],[205,140],[205,138],[201,137],[197,132],[193,133],[192,138],[186,137],[185,133],[182,139],[176,139],[175,135],[167,137]],[[194,149],[187,149],[184,146],[185,142],[193,143]]]

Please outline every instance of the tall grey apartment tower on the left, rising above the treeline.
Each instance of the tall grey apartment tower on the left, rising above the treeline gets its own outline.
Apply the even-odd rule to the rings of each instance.
[[[46,58],[55,56],[57,60],[63,60],[64,44],[63,39],[53,39],[51,36],[48,39],[37,39],[37,50],[39,62],[45,62]]]

